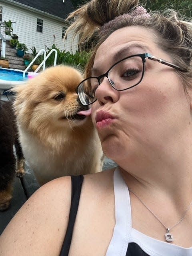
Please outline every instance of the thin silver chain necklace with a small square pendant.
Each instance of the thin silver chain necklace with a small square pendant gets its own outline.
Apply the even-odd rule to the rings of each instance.
[[[175,226],[177,226],[178,224],[180,224],[182,222],[182,220],[185,218],[186,212],[189,210],[190,206],[192,205],[192,201],[190,202],[189,206],[186,208],[186,210],[184,211],[183,215],[181,216],[180,220],[174,224],[173,226],[171,226],[170,228],[167,228],[162,221],[148,208],[148,206],[146,206],[146,204],[135,194],[135,192],[133,192],[132,190],[129,189],[129,191],[134,194],[136,196],[136,198],[138,198],[138,200],[140,200],[140,202],[153,214],[153,216],[164,226],[164,228],[166,228],[167,232],[165,234],[165,239],[167,242],[173,242],[173,235],[169,232],[172,228],[174,228]]]

